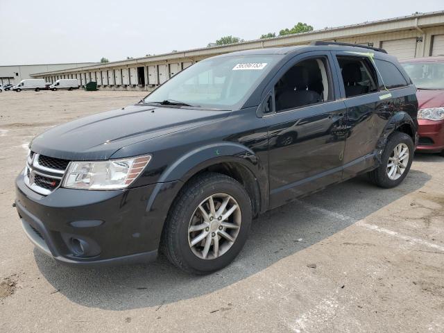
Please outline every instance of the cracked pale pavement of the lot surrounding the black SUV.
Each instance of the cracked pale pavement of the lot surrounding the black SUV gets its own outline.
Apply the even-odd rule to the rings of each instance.
[[[253,221],[213,275],[164,257],[60,266],[33,249],[12,207],[28,142],[143,92],[0,94],[0,332],[444,332],[444,157],[416,155],[400,187],[366,178]]]

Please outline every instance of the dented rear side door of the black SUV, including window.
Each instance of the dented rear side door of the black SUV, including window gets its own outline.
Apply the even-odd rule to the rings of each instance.
[[[343,179],[375,164],[375,148],[393,113],[373,60],[366,53],[333,52],[341,98],[347,108]]]

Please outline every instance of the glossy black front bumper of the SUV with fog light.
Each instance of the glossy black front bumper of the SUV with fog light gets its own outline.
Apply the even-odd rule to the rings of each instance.
[[[115,191],[58,188],[48,196],[16,179],[16,207],[26,236],[62,264],[102,266],[157,257],[178,182]],[[74,240],[81,241],[81,249]]]

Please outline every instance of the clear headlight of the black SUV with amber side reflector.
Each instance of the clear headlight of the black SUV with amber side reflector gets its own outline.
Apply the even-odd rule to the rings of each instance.
[[[144,170],[151,155],[97,162],[71,162],[62,187],[71,189],[123,189]]]

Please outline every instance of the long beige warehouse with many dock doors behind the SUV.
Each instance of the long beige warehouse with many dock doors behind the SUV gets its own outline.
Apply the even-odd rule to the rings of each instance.
[[[211,56],[246,49],[304,45],[316,40],[380,47],[400,60],[444,55],[444,10],[265,40],[251,40],[239,44],[210,46],[73,69],[44,71],[32,76],[44,78],[48,82],[54,82],[59,78],[77,78],[81,85],[96,81],[99,89],[151,91],[182,69]]]

